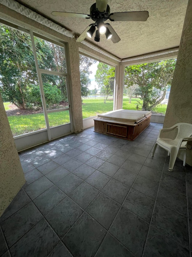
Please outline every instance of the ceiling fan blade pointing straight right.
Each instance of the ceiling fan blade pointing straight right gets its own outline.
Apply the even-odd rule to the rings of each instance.
[[[148,11],[114,12],[109,15],[111,21],[146,21],[148,17]]]

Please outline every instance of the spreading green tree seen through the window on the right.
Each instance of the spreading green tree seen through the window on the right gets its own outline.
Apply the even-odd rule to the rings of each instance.
[[[175,64],[176,59],[168,59],[125,68],[125,85],[137,84],[140,88],[142,110],[152,110],[163,101],[172,82]]]

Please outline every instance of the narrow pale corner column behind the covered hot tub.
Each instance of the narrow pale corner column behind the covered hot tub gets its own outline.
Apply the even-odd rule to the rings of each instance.
[[[114,110],[122,109],[123,105],[124,70],[122,63],[115,68],[115,90],[114,90]]]

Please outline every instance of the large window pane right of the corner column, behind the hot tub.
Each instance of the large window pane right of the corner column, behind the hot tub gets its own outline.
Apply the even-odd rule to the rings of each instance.
[[[165,114],[176,59],[125,67],[123,109]]]

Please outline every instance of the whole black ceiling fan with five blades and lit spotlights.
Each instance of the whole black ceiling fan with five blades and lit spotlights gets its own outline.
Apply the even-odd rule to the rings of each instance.
[[[96,3],[91,5],[90,14],[71,13],[71,12],[60,12],[53,11],[53,16],[62,17],[75,17],[92,19],[95,23],[90,24],[83,33],[76,40],[82,42],[86,36],[92,38],[93,34],[96,33],[94,40],[100,41],[100,34],[105,34],[107,39],[111,39],[113,43],[119,42],[121,39],[109,23],[104,23],[106,20],[110,21],[146,21],[149,17],[148,11],[133,11],[133,12],[115,12],[110,13],[110,7],[107,4],[108,0],[96,0]]]

